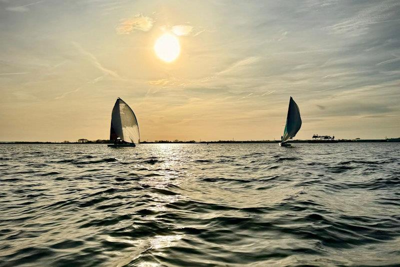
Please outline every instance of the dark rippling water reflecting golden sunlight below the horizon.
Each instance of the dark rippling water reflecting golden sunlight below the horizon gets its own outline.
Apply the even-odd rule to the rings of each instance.
[[[0,145],[0,266],[399,266],[400,144]]]

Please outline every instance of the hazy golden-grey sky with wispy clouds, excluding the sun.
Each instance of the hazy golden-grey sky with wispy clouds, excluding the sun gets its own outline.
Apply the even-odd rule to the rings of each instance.
[[[400,136],[400,1],[0,0],[0,141]],[[169,32],[180,54],[154,52]]]

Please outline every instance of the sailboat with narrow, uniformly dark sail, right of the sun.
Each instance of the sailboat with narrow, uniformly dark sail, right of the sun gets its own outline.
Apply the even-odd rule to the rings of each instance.
[[[293,98],[291,98],[290,96],[286,125],[284,126],[284,131],[279,146],[290,146],[290,144],[286,143],[287,140],[292,139],[296,135],[298,130],[300,130],[300,127],[300,110],[298,110],[296,102],[294,102]]]

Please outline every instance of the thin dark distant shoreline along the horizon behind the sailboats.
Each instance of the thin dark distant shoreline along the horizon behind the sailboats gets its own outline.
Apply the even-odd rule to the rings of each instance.
[[[140,144],[258,144],[258,143],[279,143],[280,140],[258,140],[258,141],[154,141],[154,142],[140,142]],[[332,144],[332,143],[391,143],[400,142],[400,138],[388,138],[388,139],[339,139],[332,141],[315,141],[315,140],[290,140],[289,143],[318,143],[318,144]],[[25,142],[25,141],[10,141],[0,142],[0,144],[112,144],[109,140],[96,140],[96,141],[85,141],[85,142]]]

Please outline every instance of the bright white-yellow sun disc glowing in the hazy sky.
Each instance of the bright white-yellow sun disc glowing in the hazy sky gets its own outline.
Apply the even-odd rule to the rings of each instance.
[[[159,59],[172,62],[180,53],[179,40],[170,33],[164,33],[154,43],[154,52]]]

